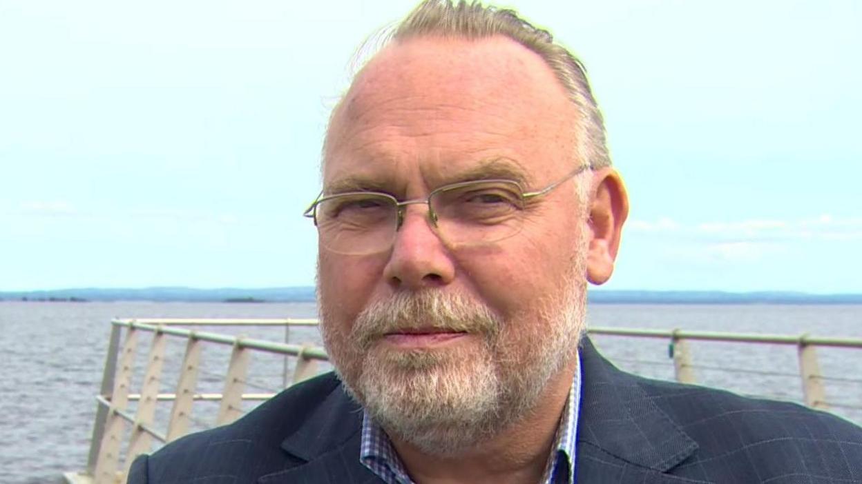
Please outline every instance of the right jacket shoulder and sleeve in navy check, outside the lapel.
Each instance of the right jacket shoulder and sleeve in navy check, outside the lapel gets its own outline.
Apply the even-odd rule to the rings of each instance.
[[[696,385],[640,385],[697,444],[680,468],[721,469],[740,482],[862,482],[862,428],[832,413]]]

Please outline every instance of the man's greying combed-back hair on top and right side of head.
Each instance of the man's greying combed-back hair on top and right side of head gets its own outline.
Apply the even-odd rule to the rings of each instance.
[[[576,137],[579,164],[610,165],[604,120],[590,90],[586,69],[568,49],[554,42],[547,30],[535,27],[511,9],[484,6],[474,0],[424,0],[391,33],[392,41],[444,36],[481,39],[503,35],[538,54],[578,107]]]

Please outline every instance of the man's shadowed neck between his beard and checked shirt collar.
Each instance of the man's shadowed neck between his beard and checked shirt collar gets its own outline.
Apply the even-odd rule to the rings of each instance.
[[[545,472],[577,365],[578,358],[572,358],[554,375],[521,421],[457,456],[428,455],[390,436],[392,445],[417,484],[534,484]]]

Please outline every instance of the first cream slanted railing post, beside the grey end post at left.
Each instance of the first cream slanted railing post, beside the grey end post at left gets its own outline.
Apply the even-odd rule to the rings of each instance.
[[[134,326],[128,326],[126,341],[122,345],[119,372],[116,375],[114,391],[110,397],[110,409],[105,424],[105,432],[102,442],[99,444],[99,455],[96,459],[96,468],[93,472],[93,479],[96,484],[113,484],[116,481],[116,471],[120,462],[120,444],[125,422],[122,417],[114,412],[114,409],[125,410],[126,406],[128,406],[128,387],[132,382],[134,350],[137,344],[138,330]]]

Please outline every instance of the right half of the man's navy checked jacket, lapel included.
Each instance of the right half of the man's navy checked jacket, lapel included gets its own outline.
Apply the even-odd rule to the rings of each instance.
[[[862,429],[844,419],[632,375],[589,338],[580,354],[579,478],[648,469],[709,482],[862,482]]]

